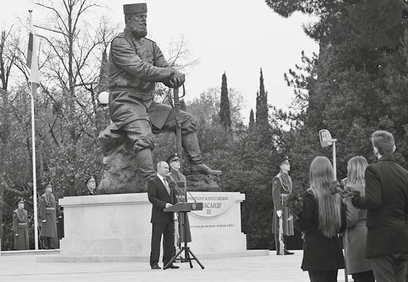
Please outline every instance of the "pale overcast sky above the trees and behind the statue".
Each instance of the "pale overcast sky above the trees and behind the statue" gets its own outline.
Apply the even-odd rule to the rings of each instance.
[[[54,0],[59,1],[59,0]],[[0,29],[28,17],[32,8],[35,23],[44,14],[32,0],[2,1]],[[222,74],[227,74],[229,88],[244,96],[242,115],[248,120],[255,110],[259,71],[263,69],[268,102],[287,110],[293,98],[283,75],[301,61],[301,51],[318,52],[316,42],[308,38],[302,23],[312,19],[296,13],[282,18],[263,0],[147,0],[148,37],[157,42],[164,54],[169,43],[184,37],[191,59],[198,64],[186,74],[187,100],[198,97],[204,90],[221,86]],[[129,0],[100,0],[107,9],[100,10],[124,28],[123,4]],[[98,10],[99,11],[99,10]]]

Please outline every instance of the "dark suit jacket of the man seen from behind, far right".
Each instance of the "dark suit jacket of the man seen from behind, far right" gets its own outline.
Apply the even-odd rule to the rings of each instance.
[[[366,196],[354,196],[352,204],[367,208],[366,256],[408,252],[408,170],[392,155],[368,165]]]

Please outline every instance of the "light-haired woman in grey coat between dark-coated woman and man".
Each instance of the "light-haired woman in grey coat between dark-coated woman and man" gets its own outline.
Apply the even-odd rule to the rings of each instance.
[[[364,172],[367,166],[367,160],[361,156],[353,157],[347,163],[345,186],[353,192],[360,192],[361,196],[366,195]],[[347,228],[343,237],[347,272],[352,274],[354,282],[374,282],[370,262],[366,259],[367,210],[355,208],[351,198],[344,201],[347,204]]]

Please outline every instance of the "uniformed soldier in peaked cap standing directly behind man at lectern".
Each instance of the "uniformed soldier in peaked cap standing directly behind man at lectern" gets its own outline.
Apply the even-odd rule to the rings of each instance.
[[[174,182],[176,182],[176,187],[174,188],[177,202],[187,201],[187,187],[186,187],[186,177],[180,172],[180,159],[177,153],[174,153],[167,158],[166,162],[170,167],[170,177]],[[188,214],[186,214],[186,234],[184,234],[184,216],[182,213],[177,213],[177,220],[179,225],[176,226],[178,231],[178,240],[176,242],[176,247],[181,247],[181,243],[184,242],[184,237],[186,242],[191,242],[191,231],[190,223],[188,222]]]

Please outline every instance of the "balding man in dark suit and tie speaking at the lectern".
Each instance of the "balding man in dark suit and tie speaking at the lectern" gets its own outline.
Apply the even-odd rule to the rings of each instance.
[[[148,197],[152,203],[152,243],[150,252],[150,266],[152,269],[160,269],[160,240],[163,235],[163,265],[172,259],[174,249],[174,213],[164,212],[177,202],[174,190],[169,188],[169,165],[166,162],[157,163],[157,175],[148,182]],[[179,266],[170,264],[170,269],[178,269]]]

